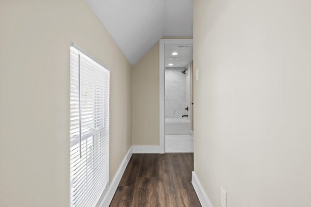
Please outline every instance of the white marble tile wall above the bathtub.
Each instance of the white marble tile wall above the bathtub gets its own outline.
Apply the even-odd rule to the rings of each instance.
[[[187,115],[186,75],[184,67],[165,68],[165,118],[182,118]]]

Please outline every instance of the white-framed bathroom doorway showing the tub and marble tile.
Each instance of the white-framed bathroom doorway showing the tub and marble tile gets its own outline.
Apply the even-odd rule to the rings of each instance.
[[[192,60],[192,39],[160,40],[160,153],[193,152]]]

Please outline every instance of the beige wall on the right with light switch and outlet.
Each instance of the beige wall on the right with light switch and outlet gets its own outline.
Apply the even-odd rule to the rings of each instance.
[[[194,0],[194,171],[213,207],[311,206],[311,1]]]

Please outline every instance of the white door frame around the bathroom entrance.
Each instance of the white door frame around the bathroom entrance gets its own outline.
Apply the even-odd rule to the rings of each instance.
[[[161,39],[160,40],[160,83],[159,83],[159,94],[160,94],[160,107],[159,107],[159,118],[160,118],[160,152],[165,153],[165,65],[164,65],[164,50],[165,45],[193,45],[193,39]]]

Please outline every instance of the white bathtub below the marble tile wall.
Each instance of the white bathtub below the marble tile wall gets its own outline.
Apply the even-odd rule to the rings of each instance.
[[[166,118],[166,135],[190,135],[190,120],[187,118]]]

